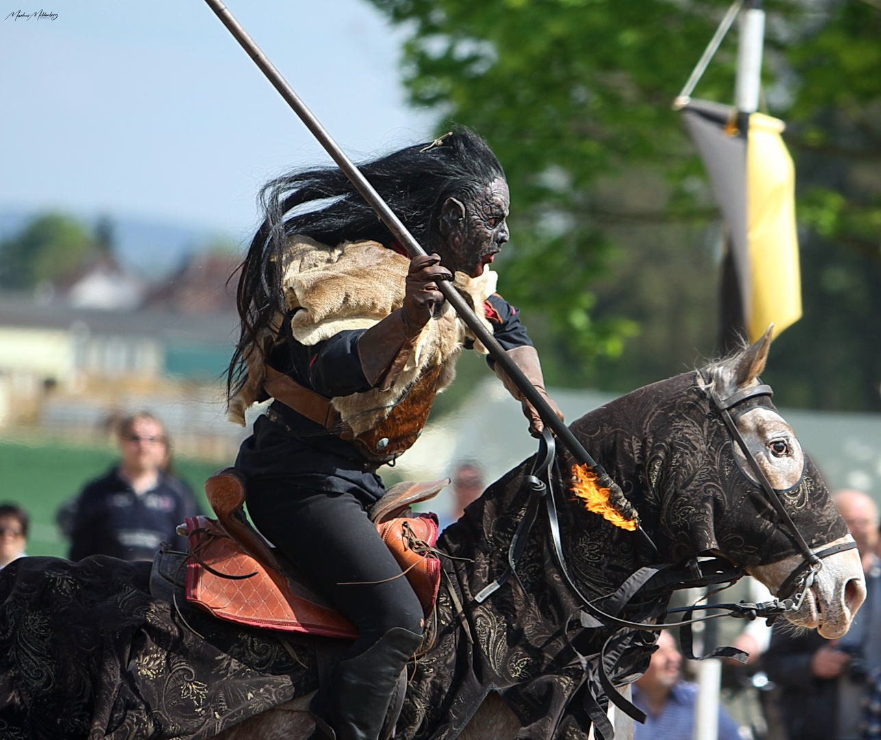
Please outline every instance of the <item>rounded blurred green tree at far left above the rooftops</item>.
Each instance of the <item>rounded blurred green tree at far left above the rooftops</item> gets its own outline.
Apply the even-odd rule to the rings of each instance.
[[[0,286],[33,288],[41,281],[55,282],[96,256],[88,230],[62,213],[33,218],[18,235],[0,243]]]

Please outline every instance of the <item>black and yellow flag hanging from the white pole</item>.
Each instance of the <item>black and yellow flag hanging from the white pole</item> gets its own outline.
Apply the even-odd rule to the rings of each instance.
[[[781,333],[802,316],[796,170],[784,123],[707,101],[690,101],[683,116],[729,229],[743,328],[751,342],[772,321]]]

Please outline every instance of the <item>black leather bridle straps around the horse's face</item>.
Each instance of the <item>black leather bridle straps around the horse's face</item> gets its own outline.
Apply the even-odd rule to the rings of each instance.
[[[701,373],[701,378],[705,382],[707,381],[707,378],[703,376],[703,373]],[[807,595],[811,586],[813,586],[817,573],[823,567],[823,559],[830,555],[844,552],[848,549],[855,549],[856,542],[840,542],[832,547],[814,552],[808,546],[808,543],[804,541],[802,533],[798,531],[796,523],[786,511],[786,507],[783,505],[780,495],[774,490],[774,487],[771,485],[771,482],[768,481],[765,472],[759,467],[759,461],[756,460],[755,456],[750,452],[750,448],[746,445],[746,440],[740,433],[740,430],[737,429],[737,424],[734,422],[734,419],[731,418],[729,409],[736,407],[745,400],[756,398],[757,396],[773,396],[774,391],[771,390],[771,386],[763,384],[752,385],[749,388],[744,388],[741,391],[732,393],[724,399],[708,387],[705,388],[705,390],[707,391],[707,396],[709,396],[710,400],[713,402],[716,411],[722,416],[722,422],[725,422],[729,434],[740,447],[741,452],[744,453],[744,457],[749,463],[753,475],[756,476],[756,480],[759,481],[759,485],[762,487],[762,490],[765,491],[768,501],[774,506],[774,511],[777,512],[778,516],[783,521],[784,526],[789,530],[789,534],[792,534],[793,539],[796,541],[796,545],[798,545],[798,549],[802,551],[802,557],[804,558],[802,563],[799,564],[793,572],[789,573],[777,592],[777,601],[783,611],[798,611],[798,609],[802,608],[804,597]]]

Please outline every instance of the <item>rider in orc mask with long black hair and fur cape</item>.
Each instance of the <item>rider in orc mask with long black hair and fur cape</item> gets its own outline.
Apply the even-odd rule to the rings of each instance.
[[[462,349],[486,352],[440,280],[544,393],[536,350],[488,269],[508,240],[509,197],[485,141],[456,131],[361,171],[429,254],[411,260],[338,169],[269,183],[241,265],[229,370],[233,420],[274,399],[236,461],[251,518],[359,628],[331,680],[338,740],[375,740],[422,639],[418,598],[366,514],[384,493],[376,470],[416,440]],[[541,419],[522,402],[535,434]]]

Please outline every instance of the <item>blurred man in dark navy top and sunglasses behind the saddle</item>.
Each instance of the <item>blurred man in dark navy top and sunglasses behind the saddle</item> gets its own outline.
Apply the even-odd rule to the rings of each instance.
[[[162,424],[151,414],[130,416],[120,425],[119,445],[119,464],[86,483],[72,507],[59,512],[59,524],[70,531],[71,560],[90,555],[152,560],[162,542],[186,547],[175,528],[197,513],[196,503],[186,483],[167,473]]]

